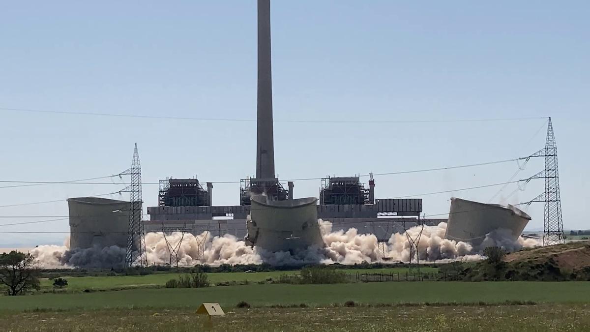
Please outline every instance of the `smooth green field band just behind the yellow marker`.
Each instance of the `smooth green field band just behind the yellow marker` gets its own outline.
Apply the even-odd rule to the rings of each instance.
[[[1,297],[0,312],[42,308],[196,308],[202,302],[234,307],[247,301],[269,305],[326,306],[355,301],[360,304],[502,303],[533,301],[588,303],[590,282],[373,282],[361,284],[288,285],[251,284],[191,289],[129,289],[124,291],[40,294]]]

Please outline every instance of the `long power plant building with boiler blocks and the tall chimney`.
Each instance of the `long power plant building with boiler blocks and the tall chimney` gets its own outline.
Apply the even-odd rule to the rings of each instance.
[[[199,180],[194,179],[166,179],[160,181],[159,204],[148,207],[150,220],[145,221],[145,230],[161,231],[183,229],[187,232],[209,227],[216,234],[231,233],[235,236],[245,236],[248,232],[246,219],[256,224],[271,226],[270,220],[261,221],[268,213],[251,210],[253,204],[263,206],[264,210],[276,207],[274,217],[276,227],[284,220],[291,220],[285,211],[305,211],[305,218],[310,209],[313,215],[333,223],[333,230],[357,227],[359,232],[375,232],[375,227],[366,227],[371,223],[391,224],[403,220],[400,216],[417,217],[422,211],[422,200],[411,199],[375,199],[375,179],[372,175],[368,188],[355,177],[326,177],[321,180],[319,205],[316,198],[295,200],[294,183],[289,181],[285,189],[276,177],[274,167],[274,137],[273,137],[273,96],[271,74],[271,36],[270,36],[270,1],[258,0],[258,82],[257,82],[257,127],[256,127],[256,174],[247,177],[240,183],[240,202],[235,206],[213,206],[212,184],[207,183],[207,190],[202,188]],[[253,197],[264,195],[253,203]],[[264,200],[264,202],[262,202]],[[313,201],[313,204],[310,203]],[[289,203],[283,203],[289,202]],[[262,204],[262,205],[261,205]],[[304,209],[299,206],[303,204]],[[287,209],[286,207],[289,207]],[[219,218],[225,220],[219,220]],[[258,220],[256,220],[258,219]],[[284,219],[284,220],[283,220]],[[438,223],[433,220],[430,223]],[[428,223],[428,222],[427,222]],[[289,224],[289,223],[286,223]],[[251,226],[251,224],[248,224]],[[248,226],[248,227],[250,227]],[[299,226],[297,226],[299,227]],[[297,228],[296,227],[296,228]],[[391,228],[391,227],[389,227]],[[399,228],[399,227],[398,227]],[[383,229],[383,227],[381,227]],[[281,232],[286,232],[281,228]],[[391,234],[390,234],[391,235]],[[253,236],[250,233],[250,236]],[[264,236],[264,232],[260,233]],[[264,240],[252,240],[251,243],[262,243]],[[270,235],[274,236],[274,235]],[[386,237],[386,234],[383,234]],[[293,241],[291,241],[293,242]],[[310,240],[314,243],[314,240]],[[278,247],[277,247],[278,248]]]

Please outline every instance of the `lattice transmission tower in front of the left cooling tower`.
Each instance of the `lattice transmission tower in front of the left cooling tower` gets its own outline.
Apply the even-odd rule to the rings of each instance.
[[[131,196],[129,201],[129,235],[127,236],[125,266],[148,266],[145,233],[143,230],[142,166],[139,163],[137,143],[133,151],[131,168],[121,174],[131,176],[131,184],[123,190],[129,191]]]

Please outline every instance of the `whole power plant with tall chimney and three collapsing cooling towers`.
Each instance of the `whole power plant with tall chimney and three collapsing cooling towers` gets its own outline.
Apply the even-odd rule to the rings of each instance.
[[[240,181],[239,202],[231,206],[214,206],[213,184],[203,187],[196,177],[160,180],[158,206],[148,207],[149,220],[141,223],[145,232],[230,233],[244,237],[253,246],[293,251],[322,245],[318,219],[331,222],[333,231],[355,227],[359,233],[375,234],[380,241],[418,224],[422,199],[375,198],[372,174],[368,186],[358,175],[322,178],[319,204],[315,197],[295,198],[294,182],[288,181],[285,189],[276,176],[273,130],[270,0],[258,0],[255,176]],[[140,184],[140,172],[126,174],[133,174]],[[133,209],[126,201],[70,198],[72,248],[125,247],[131,243],[128,234],[143,233],[129,232],[129,211],[141,211],[140,187],[134,192],[139,196],[132,198],[132,203],[139,205]],[[529,220],[526,213],[513,206],[453,198],[445,237],[477,245],[487,233],[508,229],[516,240]],[[447,219],[419,221],[426,225],[440,222]]]

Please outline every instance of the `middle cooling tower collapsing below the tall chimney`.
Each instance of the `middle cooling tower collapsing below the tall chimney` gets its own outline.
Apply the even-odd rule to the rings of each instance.
[[[252,196],[246,242],[271,252],[323,248],[316,201],[314,197],[268,201],[266,196]]]

